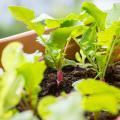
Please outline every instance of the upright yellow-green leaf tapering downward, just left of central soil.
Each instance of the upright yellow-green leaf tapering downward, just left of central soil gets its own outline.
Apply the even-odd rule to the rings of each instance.
[[[29,94],[33,106],[37,102],[37,96],[40,92],[40,83],[44,77],[46,69],[45,62],[28,62],[17,69],[25,80],[25,89]]]

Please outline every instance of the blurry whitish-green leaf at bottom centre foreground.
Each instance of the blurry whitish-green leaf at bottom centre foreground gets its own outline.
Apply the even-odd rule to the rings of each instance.
[[[46,99],[49,100],[47,101]],[[81,96],[77,92],[56,99],[57,101],[51,102],[53,97],[43,98],[47,108],[43,105],[42,110],[50,112],[50,114],[47,114],[48,116],[45,116],[44,120],[85,120],[82,108],[80,107]]]

